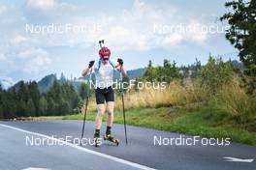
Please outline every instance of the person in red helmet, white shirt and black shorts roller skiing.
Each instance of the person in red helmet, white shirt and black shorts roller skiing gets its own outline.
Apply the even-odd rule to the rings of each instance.
[[[103,138],[105,140],[114,142],[118,146],[118,139],[114,139],[112,137],[112,121],[114,108],[114,91],[112,89],[113,71],[120,71],[123,76],[127,76],[127,73],[124,70],[122,59],[117,59],[117,61],[113,61],[110,59],[111,50],[108,47],[102,46],[99,50],[99,56],[99,60],[97,60],[96,62],[90,61],[88,67],[82,71],[82,76],[86,76],[89,71],[94,71],[96,77],[95,96],[98,113],[95,119],[94,142],[96,146],[100,143],[99,139],[100,129],[102,126],[102,118],[105,111],[107,110],[107,129],[106,134]]]

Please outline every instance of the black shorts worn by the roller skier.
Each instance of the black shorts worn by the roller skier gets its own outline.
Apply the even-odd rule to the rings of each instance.
[[[104,104],[105,101],[114,101],[114,93],[112,86],[104,89],[97,88],[95,90],[97,104]]]

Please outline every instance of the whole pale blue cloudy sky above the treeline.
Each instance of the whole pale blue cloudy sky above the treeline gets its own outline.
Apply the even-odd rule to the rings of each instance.
[[[98,60],[99,40],[127,70],[164,59],[205,64],[209,53],[238,59],[225,40],[224,0],[0,0],[0,79],[80,77]]]

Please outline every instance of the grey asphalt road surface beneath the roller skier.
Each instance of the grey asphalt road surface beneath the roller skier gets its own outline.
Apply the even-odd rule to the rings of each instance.
[[[95,155],[95,153],[91,154],[63,145],[27,146],[26,139],[30,136],[30,141],[32,141],[32,134],[1,125],[64,139],[77,146],[82,121],[0,122],[0,169],[25,169],[27,167],[48,169],[140,169],[147,167],[174,170],[256,169],[255,160],[252,162],[225,161],[227,159],[224,157],[256,158],[256,147],[237,143],[231,143],[229,146],[204,146],[201,142],[196,145],[175,143],[171,145],[171,138],[180,138],[181,134],[129,126],[127,127],[129,144],[125,145],[123,126],[114,125],[112,133],[121,141],[120,145],[116,147],[108,141],[103,141],[100,147],[95,148],[89,145],[94,133],[94,123],[86,122],[82,148],[96,152]],[[102,132],[106,130],[105,128],[104,125]],[[166,145],[159,145],[160,137]],[[191,136],[182,135],[182,137]],[[98,156],[98,153],[104,156]],[[108,158],[108,156],[113,156],[113,158]],[[116,161],[115,157],[127,160],[128,163]],[[132,163],[137,164],[133,166]],[[139,167],[140,165],[142,167]]]

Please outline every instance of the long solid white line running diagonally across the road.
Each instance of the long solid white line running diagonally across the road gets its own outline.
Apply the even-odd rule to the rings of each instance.
[[[92,155],[95,155],[95,156],[102,156],[102,157],[105,157],[105,158],[109,158],[109,159],[112,159],[113,161],[120,162],[120,163],[123,163],[123,164],[127,164],[129,166],[133,166],[133,167],[136,167],[136,168],[139,168],[139,169],[155,170],[153,168],[141,165],[139,163],[135,163],[135,162],[128,161],[128,160],[125,160],[125,159],[122,159],[122,158],[118,158],[118,157],[114,157],[114,156],[109,156],[109,155],[102,154],[102,153],[99,153],[99,152],[96,152],[96,151],[88,150],[88,149],[82,148],[82,147],[80,147],[78,145],[74,145],[72,143],[69,143],[69,142],[66,142],[66,141],[54,138],[52,136],[45,135],[45,134],[41,134],[41,133],[37,133],[37,132],[33,132],[33,131],[28,131],[28,130],[25,130],[25,129],[22,129],[22,128],[15,128],[15,127],[3,125],[3,124],[0,124],[0,126],[1,127],[5,127],[5,128],[12,128],[12,129],[15,129],[15,130],[18,130],[18,131],[22,131],[22,132],[25,132],[25,133],[28,133],[28,134],[32,134],[32,135],[38,135],[38,136],[45,137],[45,138],[48,138],[48,139],[51,139],[51,140],[54,140],[54,141],[57,141],[57,142],[60,142],[60,143],[64,142],[67,146],[75,148],[77,150],[80,150],[80,151],[83,151],[83,152],[86,152],[86,153],[89,153],[89,154],[92,154]]]

